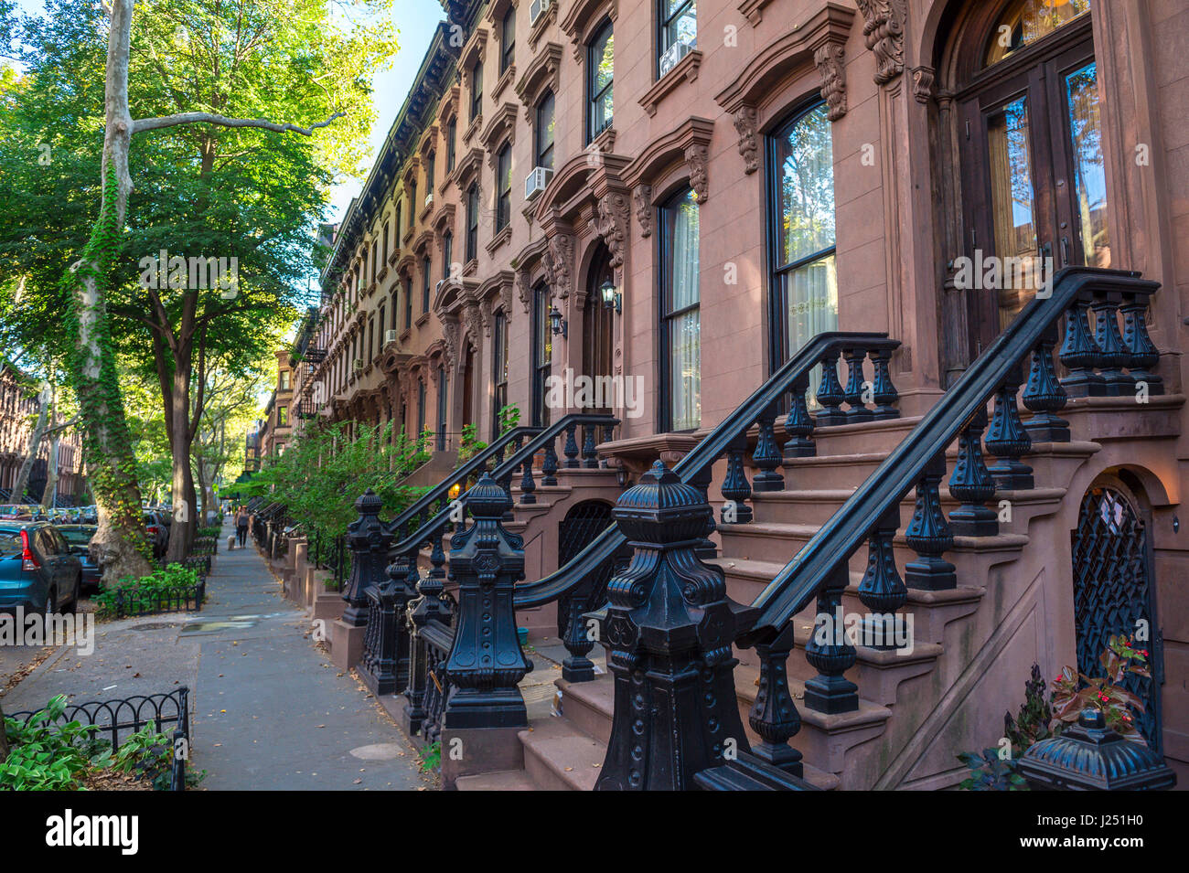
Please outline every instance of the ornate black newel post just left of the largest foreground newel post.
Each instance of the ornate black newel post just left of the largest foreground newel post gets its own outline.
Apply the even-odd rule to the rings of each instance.
[[[527,727],[517,683],[533,669],[516,637],[512,588],[524,578],[524,540],[504,530],[508,493],[486,473],[467,492],[473,524],[451,538],[449,571],[458,582],[458,630],[446,662],[453,685],[443,727]]]

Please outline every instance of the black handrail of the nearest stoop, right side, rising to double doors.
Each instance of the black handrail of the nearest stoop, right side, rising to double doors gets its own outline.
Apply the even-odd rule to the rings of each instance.
[[[1121,270],[1067,267],[1052,278],[1052,293],[1036,297],[979,355],[891,455],[793,556],[753,602],[761,609],[744,644],[782,628],[809,606],[831,574],[843,567],[875,521],[916,486],[925,467],[945,451],[970,418],[995,393],[1009,371],[1032,353],[1046,331],[1078,298],[1094,291],[1156,292],[1159,283]],[[679,466],[680,468],[680,466]]]

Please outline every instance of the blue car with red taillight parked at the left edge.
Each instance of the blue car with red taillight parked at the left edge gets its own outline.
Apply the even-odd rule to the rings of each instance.
[[[44,521],[0,521],[0,609],[73,613],[82,590],[82,562]]]

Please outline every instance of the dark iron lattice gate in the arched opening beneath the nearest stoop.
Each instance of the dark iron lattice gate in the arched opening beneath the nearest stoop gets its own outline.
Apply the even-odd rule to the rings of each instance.
[[[1093,486],[1082,498],[1072,534],[1074,621],[1077,630],[1077,670],[1100,676],[1099,658],[1111,637],[1131,637],[1143,621],[1152,678],[1128,675],[1122,685],[1144,701],[1135,726],[1147,745],[1162,752],[1160,679],[1164,672],[1147,529],[1121,491]],[[1140,647],[1145,645],[1140,641]]]

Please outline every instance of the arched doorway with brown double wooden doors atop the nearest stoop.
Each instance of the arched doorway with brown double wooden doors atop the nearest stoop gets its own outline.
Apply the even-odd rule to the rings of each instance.
[[[1094,1],[977,4],[951,48],[968,360],[1053,271],[1112,266]]]

